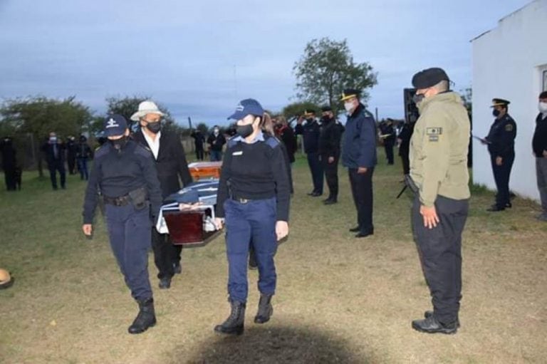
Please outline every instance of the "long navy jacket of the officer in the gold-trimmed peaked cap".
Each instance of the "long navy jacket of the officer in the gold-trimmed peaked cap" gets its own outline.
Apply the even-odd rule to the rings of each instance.
[[[359,104],[345,123],[342,163],[348,168],[372,168],[377,163],[376,123],[363,104]]]

